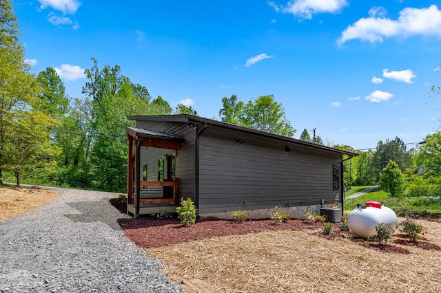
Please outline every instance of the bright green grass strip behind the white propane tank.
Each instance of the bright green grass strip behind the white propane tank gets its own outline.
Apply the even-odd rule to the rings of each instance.
[[[351,193],[347,193],[346,196],[358,193],[367,187],[369,186],[355,186],[351,189]],[[391,208],[397,215],[403,217],[407,215],[441,213],[440,197],[389,197],[380,188],[360,197],[345,199],[345,210],[353,210],[357,207],[357,204],[365,204],[369,201],[380,202],[382,205]]]

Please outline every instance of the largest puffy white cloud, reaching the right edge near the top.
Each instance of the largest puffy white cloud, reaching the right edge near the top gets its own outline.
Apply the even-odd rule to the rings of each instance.
[[[353,39],[375,43],[392,36],[441,36],[441,11],[435,5],[429,8],[404,8],[397,20],[384,18],[382,10],[371,9],[369,12],[370,17],[349,25],[337,43],[341,45]]]

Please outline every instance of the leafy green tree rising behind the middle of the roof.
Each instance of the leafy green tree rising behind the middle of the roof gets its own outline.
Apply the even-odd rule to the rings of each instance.
[[[285,115],[285,109],[274,100],[273,95],[259,96],[246,104],[237,101],[237,96],[223,98],[223,109],[219,115],[223,122],[292,137],[296,133]]]

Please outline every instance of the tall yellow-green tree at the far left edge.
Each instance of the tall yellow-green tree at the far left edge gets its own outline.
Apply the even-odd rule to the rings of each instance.
[[[0,183],[6,170],[20,184],[21,173],[37,169],[39,155],[48,147],[48,132],[40,127],[50,127],[53,120],[39,109],[41,87],[24,62],[9,1],[0,0],[0,20]]]

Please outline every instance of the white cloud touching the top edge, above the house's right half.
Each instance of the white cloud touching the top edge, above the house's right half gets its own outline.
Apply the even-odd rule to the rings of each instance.
[[[269,1],[268,4],[276,12],[294,14],[299,19],[312,19],[313,14],[319,13],[337,13],[348,6],[347,0],[291,0],[286,6]]]

